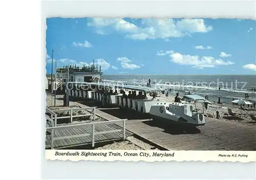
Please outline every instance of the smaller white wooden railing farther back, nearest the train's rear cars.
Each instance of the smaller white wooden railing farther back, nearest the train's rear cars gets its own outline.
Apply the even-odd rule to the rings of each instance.
[[[90,114],[80,114],[80,115],[73,115],[73,112],[76,110],[87,110],[92,109],[92,111],[89,111]],[[62,118],[70,118],[70,122],[73,122],[74,117],[86,117],[86,116],[93,116],[93,121],[95,120],[95,113],[96,113],[96,107],[86,107],[86,108],[69,108],[69,109],[55,109],[53,112],[57,111],[68,111],[70,112],[70,115],[68,116],[58,116],[56,119],[62,119]]]

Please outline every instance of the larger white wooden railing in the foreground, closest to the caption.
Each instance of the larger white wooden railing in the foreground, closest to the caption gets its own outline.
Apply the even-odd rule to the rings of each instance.
[[[95,135],[98,134],[106,134],[106,133],[113,133],[113,132],[123,132],[123,141],[126,138],[125,135],[125,121],[127,119],[118,119],[118,120],[113,120],[113,121],[104,121],[104,122],[93,122],[93,123],[83,123],[83,124],[76,124],[76,125],[67,125],[67,126],[57,126],[57,127],[49,127],[46,128],[47,130],[51,130],[51,149],[54,149],[54,144],[53,142],[55,140],[60,140],[60,139],[67,139],[67,138],[74,138],[74,137],[84,137],[84,136],[89,136],[92,135],[92,147],[95,145]],[[109,131],[101,131],[101,132],[95,132],[95,126],[96,125],[105,125],[105,124],[114,124],[116,122],[123,122],[123,127],[122,129],[115,129],[115,130],[109,130]],[[54,130],[55,129],[66,129],[66,128],[78,128],[78,127],[85,127],[85,126],[92,126],[92,131],[90,133],[83,133],[83,134],[76,134],[76,135],[68,135],[68,136],[61,136],[61,137],[54,137]]]

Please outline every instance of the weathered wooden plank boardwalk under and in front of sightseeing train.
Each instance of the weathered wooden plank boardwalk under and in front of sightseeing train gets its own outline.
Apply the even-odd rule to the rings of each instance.
[[[79,105],[95,106],[92,102]],[[96,114],[109,121],[127,118],[126,130],[166,150],[256,150],[256,129],[233,122],[206,118],[205,126],[185,131],[127,109],[101,108]]]

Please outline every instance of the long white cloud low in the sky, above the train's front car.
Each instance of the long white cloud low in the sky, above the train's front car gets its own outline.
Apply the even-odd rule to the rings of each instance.
[[[171,62],[180,65],[190,65],[194,68],[213,68],[216,66],[223,65],[232,65],[233,62],[225,62],[222,59],[215,59],[211,56],[202,56],[201,58],[198,55],[182,55],[180,53],[172,53],[170,54]]]

